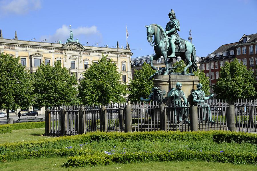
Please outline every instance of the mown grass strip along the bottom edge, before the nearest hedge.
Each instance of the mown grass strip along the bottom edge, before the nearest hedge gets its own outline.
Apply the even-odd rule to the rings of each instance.
[[[107,166],[84,167],[84,168],[65,168],[61,165],[67,158],[38,158],[31,160],[20,160],[14,162],[0,163],[0,170],[76,170],[76,171],[108,171],[108,170],[127,170],[127,171],[149,171],[149,170],[228,170],[228,171],[253,171],[257,165],[248,164],[228,164],[200,161],[179,161],[179,162],[148,162],[133,164],[110,164]],[[28,167],[29,166],[29,167]]]

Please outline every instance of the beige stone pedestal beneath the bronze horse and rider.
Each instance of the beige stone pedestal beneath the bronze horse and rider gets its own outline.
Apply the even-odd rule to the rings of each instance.
[[[190,105],[193,104],[192,92],[197,89],[196,85],[200,82],[198,76],[192,75],[156,75],[154,76],[154,86],[166,91],[166,95],[172,88],[176,88],[176,83],[182,84],[184,92]]]

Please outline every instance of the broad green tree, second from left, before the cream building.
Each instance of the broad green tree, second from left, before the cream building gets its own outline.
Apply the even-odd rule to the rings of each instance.
[[[60,62],[54,66],[42,63],[33,74],[35,78],[35,104],[39,107],[78,104],[77,81],[69,70],[61,67]]]

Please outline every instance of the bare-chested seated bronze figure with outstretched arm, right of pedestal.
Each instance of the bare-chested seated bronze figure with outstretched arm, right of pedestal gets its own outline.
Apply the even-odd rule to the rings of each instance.
[[[208,120],[209,122],[214,123],[214,120],[212,120],[212,114],[210,110],[210,105],[208,103],[205,103],[205,100],[208,100],[213,97],[213,94],[210,96],[206,97],[204,91],[202,90],[202,84],[198,83],[197,85],[197,90],[194,90],[192,92],[192,97],[193,97],[193,102],[194,103],[200,103],[199,105],[201,107],[207,107],[207,108],[200,108],[200,113],[202,113],[202,120],[205,120],[205,115],[208,114]],[[199,106],[198,105],[198,106]]]

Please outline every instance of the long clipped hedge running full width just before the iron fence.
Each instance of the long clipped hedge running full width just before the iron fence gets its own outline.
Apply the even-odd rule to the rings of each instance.
[[[30,149],[30,148],[62,148],[67,146],[76,146],[86,142],[100,140],[118,140],[118,141],[188,141],[199,142],[213,140],[214,142],[248,142],[257,144],[257,134],[230,132],[230,131],[199,131],[199,132],[180,132],[180,131],[152,131],[152,132],[91,132],[75,136],[63,136],[49,138],[38,141],[15,142],[0,144],[1,148],[6,149]]]

